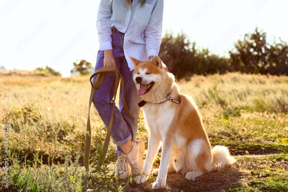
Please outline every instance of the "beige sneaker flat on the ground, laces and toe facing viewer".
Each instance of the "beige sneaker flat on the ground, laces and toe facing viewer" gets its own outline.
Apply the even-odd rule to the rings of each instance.
[[[115,177],[118,176],[118,179],[126,179],[130,177],[130,173],[131,167],[127,160],[127,155],[122,154],[121,156],[118,156],[118,160],[116,161],[116,165],[114,167]]]

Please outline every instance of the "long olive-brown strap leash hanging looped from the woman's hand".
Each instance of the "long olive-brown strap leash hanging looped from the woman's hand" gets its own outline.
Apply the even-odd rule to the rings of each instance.
[[[93,171],[90,171],[89,166],[88,166],[89,165],[89,157],[90,157],[90,147],[91,147],[90,107],[92,104],[92,100],[93,100],[95,91],[96,91],[96,89],[98,89],[102,85],[102,83],[104,81],[104,77],[105,77],[105,72],[107,72],[107,71],[116,71],[116,82],[115,82],[115,88],[114,88],[114,99],[113,99],[113,108],[112,108],[113,110],[112,110],[111,120],[110,120],[109,126],[107,128],[107,134],[106,134],[104,145],[103,145],[103,148],[101,151],[101,156],[99,158],[99,161],[97,163],[96,168]],[[95,77],[96,75],[98,75],[98,76],[96,77],[94,83],[92,83],[92,78]],[[120,74],[116,65],[109,65],[109,66],[101,67],[100,69],[94,71],[94,73],[90,76],[90,83],[91,83],[92,88],[91,88],[90,99],[89,99],[87,128],[86,128],[86,140],[85,140],[85,149],[84,149],[84,167],[90,173],[95,173],[101,168],[101,166],[105,160],[106,154],[107,154],[111,130],[112,130],[115,98],[116,98],[116,94],[117,94],[119,81],[120,81],[120,88],[122,89],[122,102],[123,102],[124,109],[126,110],[126,112],[128,114],[132,115],[130,113],[126,103],[125,103],[125,100],[124,100],[124,94],[123,94],[124,93],[123,92],[124,81],[123,81],[123,77]],[[136,117],[134,115],[132,115],[132,116],[137,118],[137,119],[143,119],[143,117]]]

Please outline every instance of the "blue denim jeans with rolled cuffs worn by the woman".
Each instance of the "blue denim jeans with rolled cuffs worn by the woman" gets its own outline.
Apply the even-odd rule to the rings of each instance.
[[[112,54],[115,59],[115,64],[120,71],[124,79],[124,98],[129,111],[134,115],[139,117],[140,107],[138,103],[141,101],[140,96],[137,94],[135,83],[133,80],[133,71],[130,71],[126,58],[124,56],[123,42],[124,33],[119,31],[112,31]],[[129,58],[130,59],[130,58]],[[96,65],[94,71],[103,67],[104,52],[98,51]],[[95,81],[94,77],[92,82]],[[113,96],[115,87],[115,72],[105,72],[105,78],[103,84],[98,88],[94,94],[93,104],[98,111],[102,121],[104,122],[106,128],[109,125],[112,107],[113,107]],[[122,103],[122,90],[119,93],[119,109],[114,106],[113,114],[113,126],[111,130],[111,137],[117,145],[116,153],[121,155],[123,153],[120,145],[127,143],[128,141],[135,141],[138,127],[138,119],[129,115]]]

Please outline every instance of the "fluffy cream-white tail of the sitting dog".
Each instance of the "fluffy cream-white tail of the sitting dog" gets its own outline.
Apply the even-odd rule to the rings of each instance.
[[[223,169],[226,165],[230,165],[236,162],[236,160],[230,155],[229,149],[224,146],[216,145],[212,151],[212,170]]]

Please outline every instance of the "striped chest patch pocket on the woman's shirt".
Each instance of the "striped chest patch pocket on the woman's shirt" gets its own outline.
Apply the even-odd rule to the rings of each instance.
[[[140,23],[148,23],[153,10],[154,5],[145,4],[140,7],[141,3],[136,6],[133,18]]]

